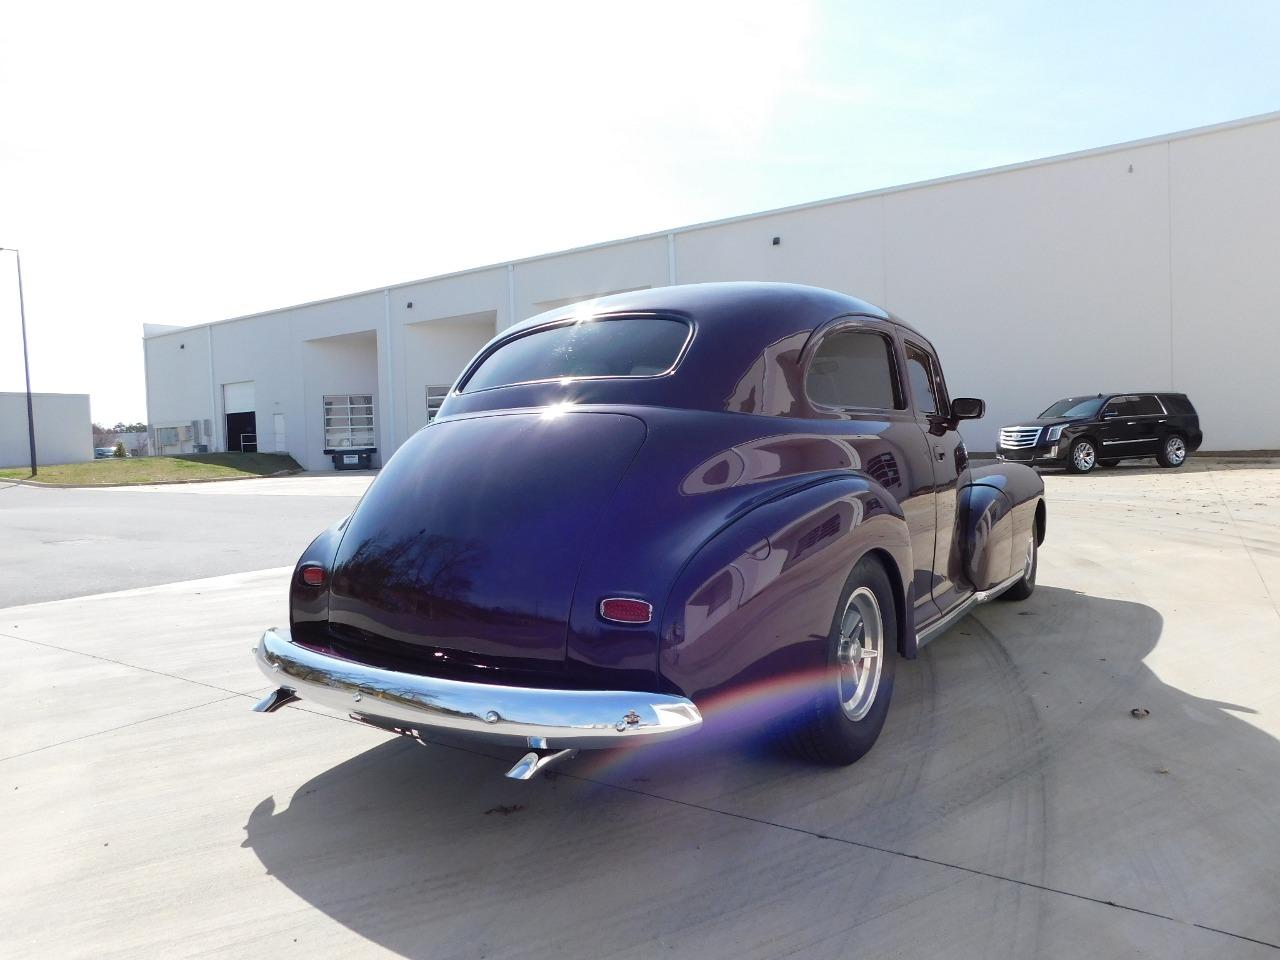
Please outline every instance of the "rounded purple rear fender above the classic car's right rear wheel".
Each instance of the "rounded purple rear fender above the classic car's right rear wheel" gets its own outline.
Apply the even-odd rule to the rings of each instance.
[[[785,684],[822,667],[845,580],[869,553],[882,558],[895,585],[902,648],[910,635],[902,614],[910,536],[897,503],[874,481],[815,484],[721,530],[684,567],[664,604],[664,687],[708,695],[742,684]]]

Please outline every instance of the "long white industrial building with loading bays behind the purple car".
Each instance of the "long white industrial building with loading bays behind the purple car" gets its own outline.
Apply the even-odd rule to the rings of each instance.
[[[788,280],[878,303],[983,397],[974,451],[1053,399],[1180,390],[1204,448],[1277,449],[1280,113],[682,227],[196,326],[145,330],[159,453],[292,453],[425,425],[494,333],[620,291]],[[326,420],[328,412],[328,420]],[[326,438],[328,422],[328,438]],[[378,461],[375,460],[375,463]]]

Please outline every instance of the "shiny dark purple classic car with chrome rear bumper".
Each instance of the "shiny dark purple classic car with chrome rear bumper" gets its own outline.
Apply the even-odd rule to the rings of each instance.
[[[983,412],[914,328],[831,291],[535,316],[307,548],[289,630],[255,650],[279,687],[256,709],[508,744],[518,780],[719,716],[852,763],[899,659],[1036,585],[1044,488],[969,465],[956,426]]]

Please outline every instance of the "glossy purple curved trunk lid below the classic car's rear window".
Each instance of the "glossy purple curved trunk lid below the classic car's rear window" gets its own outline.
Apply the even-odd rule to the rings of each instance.
[[[644,438],[632,416],[554,408],[420,430],[351,518],[330,632],[407,669],[562,672],[579,570]]]

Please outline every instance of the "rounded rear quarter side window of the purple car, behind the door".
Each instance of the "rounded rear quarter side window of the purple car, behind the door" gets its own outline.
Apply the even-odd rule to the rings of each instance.
[[[870,330],[828,334],[809,361],[804,380],[809,401],[824,407],[901,410],[890,339]]]

